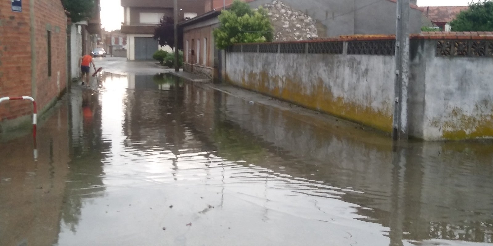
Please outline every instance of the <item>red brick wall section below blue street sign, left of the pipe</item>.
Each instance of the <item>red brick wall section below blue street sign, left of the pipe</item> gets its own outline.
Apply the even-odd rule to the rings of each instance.
[[[11,11],[11,1],[0,1],[0,97],[31,95],[31,43],[29,0],[22,12]],[[0,122],[31,112],[29,102],[0,104]]]

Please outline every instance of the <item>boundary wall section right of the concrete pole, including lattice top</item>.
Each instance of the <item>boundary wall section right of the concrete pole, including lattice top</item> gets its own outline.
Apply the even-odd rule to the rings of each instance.
[[[493,53],[488,46],[493,47],[492,40],[412,41],[411,135],[493,138]]]

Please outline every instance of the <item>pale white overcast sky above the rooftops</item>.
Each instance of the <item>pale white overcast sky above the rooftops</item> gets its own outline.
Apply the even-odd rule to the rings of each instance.
[[[467,6],[470,0],[418,0],[418,6]],[[101,23],[106,31],[120,29],[123,8],[120,0],[101,0]]]

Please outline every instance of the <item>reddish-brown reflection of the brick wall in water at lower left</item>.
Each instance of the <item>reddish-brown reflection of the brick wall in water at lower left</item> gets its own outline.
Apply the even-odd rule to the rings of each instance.
[[[32,134],[0,136],[0,245],[52,245],[60,232],[59,217],[70,161],[68,107],[59,105],[41,119],[38,161]]]

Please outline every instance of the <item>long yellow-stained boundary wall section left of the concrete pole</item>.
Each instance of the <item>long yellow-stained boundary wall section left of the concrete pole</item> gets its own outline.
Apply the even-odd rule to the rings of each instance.
[[[344,54],[309,54],[308,43],[301,44],[276,44],[272,53],[247,52],[255,47],[243,45],[244,52],[227,54],[226,79],[233,85],[391,131],[393,56],[347,55],[347,42],[342,50],[317,47],[319,53]]]

